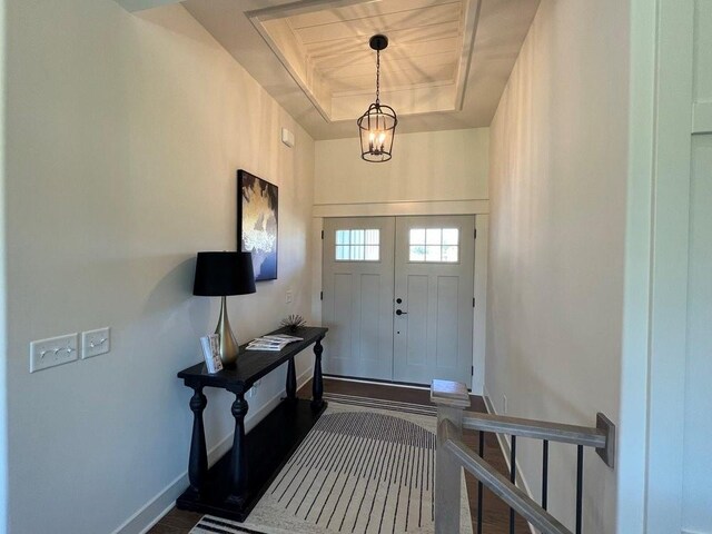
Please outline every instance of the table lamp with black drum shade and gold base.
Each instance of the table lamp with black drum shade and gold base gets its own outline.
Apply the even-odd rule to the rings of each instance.
[[[220,359],[225,366],[235,365],[238,352],[238,344],[227,318],[225,297],[255,291],[250,253],[198,253],[192,294],[221,297],[220,318],[215,333],[220,336]]]

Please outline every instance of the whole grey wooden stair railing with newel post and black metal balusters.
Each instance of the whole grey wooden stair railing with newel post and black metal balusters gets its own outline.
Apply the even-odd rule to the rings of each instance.
[[[477,478],[477,534],[482,534],[483,487],[487,487],[510,506],[510,533],[514,534],[515,514],[544,534],[572,534],[547,511],[548,444],[576,445],[576,534],[582,534],[584,447],[592,447],[613,467],[615,426],[597,414],[596,427],[563,425],[467,412],[469,395],[464,384],[433,380],[431,400],[437,406],[437,449],[435,468],[435,534],[459,532],[461,467]],[[462,439],[463,428],[477,431],[478,454]],[[510,477],[503,476],[484,459],[485,433],[510,435]],[[517,436],[542,439],[542,503],[533,501],[516,486]]]

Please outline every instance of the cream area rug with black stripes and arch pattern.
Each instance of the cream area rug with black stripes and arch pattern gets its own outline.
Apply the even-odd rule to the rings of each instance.
[[[435,407],[325,394],[329,406],[245,523],[191,534],[433,533]],[[463,479],[462,533],[472,532]]]

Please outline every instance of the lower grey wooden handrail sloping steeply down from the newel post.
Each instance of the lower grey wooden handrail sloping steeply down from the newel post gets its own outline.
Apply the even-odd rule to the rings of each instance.
[[[515,510],[535,528],[546,534],[572,534],[554,516],[532,501],[522,490],[502,476],[492,465],[477,456],[457,437],[457,427],[449,421],[441,423],[439,433],[443,436],[443,447],[458,461],[458,463],[492,493]]]

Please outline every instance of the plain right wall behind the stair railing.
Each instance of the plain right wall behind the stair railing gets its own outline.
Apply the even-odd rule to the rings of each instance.
[[[491,126],[486,393],[508,415],[619,422],[627,2],[543,0]],[[540,498],[541,445],[517,459]],[[573,528],[575,447],[551,448],[550,511]],[[615,532],[615,473],[589,451],[584,532]]]

